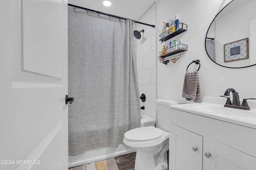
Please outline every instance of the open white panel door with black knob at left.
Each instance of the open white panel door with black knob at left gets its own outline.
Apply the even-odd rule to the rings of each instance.
[[[68,169],[67,0],[3,0],[0,169]]]

